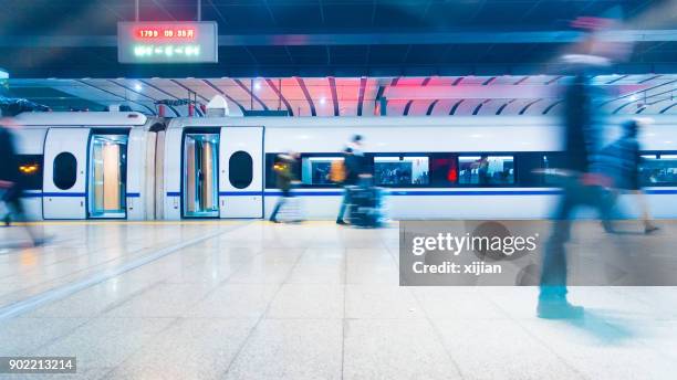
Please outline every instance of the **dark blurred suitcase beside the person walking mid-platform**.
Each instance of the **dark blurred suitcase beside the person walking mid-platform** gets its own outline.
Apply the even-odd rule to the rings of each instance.
[[[371,184],[350,187],[351,205],[348,220],[351,224],[362,228],[377,228],[382,223],[382,189]]]

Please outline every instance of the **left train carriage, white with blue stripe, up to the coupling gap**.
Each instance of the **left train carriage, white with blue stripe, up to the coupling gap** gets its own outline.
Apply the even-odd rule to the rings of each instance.
[[[164,120],[139,113],[23,113],[2,124],[14,131],[30,219],[156,219]]]

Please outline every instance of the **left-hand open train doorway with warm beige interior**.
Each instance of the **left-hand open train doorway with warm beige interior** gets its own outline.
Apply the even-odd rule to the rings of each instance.
[[[91,219],[127,217],[127,140],[126,134],[92,134],[87,187]]]

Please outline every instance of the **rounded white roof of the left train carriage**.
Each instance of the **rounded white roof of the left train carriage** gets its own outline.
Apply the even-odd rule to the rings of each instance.
[[[148,119],[146,115],[137,112],[51,112],[22,113],[3,120],[22,126],[127,127],[145,125]]]

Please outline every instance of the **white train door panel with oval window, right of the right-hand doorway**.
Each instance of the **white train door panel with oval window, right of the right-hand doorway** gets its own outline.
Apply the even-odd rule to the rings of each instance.
[[[222,127],[221,218],[263,218],[263,127]]]

